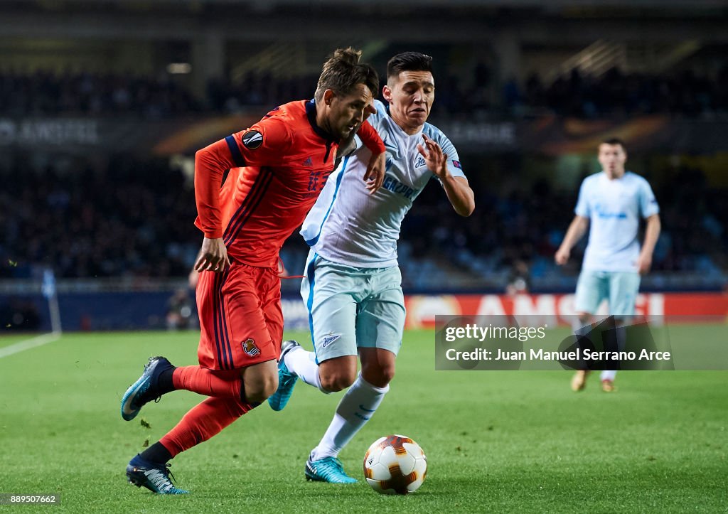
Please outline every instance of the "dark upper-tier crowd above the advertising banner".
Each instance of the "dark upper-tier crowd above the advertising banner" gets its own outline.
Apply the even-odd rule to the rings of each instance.
[[[445,76],[438,87],[438,116],[538,116],[597,118],[632,114],[714,116],[728,113],[728,66],[714,76],[695,71],[650,75],[612,68],[603,76],[574,70],[547,83],[532,74],[523,84],[510,80],[500,91],[485,65],[472,77]],[[275,106],[281,98],[309,98],[315,77],[277,79],[250,72],[240,82],[210,82],[197,99],[171,76],[122,74],[17,74],[0,70],[0,114],[132,114],[146,118],[194,112],[229,113],[244,106]]]

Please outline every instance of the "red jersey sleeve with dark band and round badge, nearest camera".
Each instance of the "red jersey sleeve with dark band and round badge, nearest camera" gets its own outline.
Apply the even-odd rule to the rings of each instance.
[[[194,156],[195,225],[205,237],[223,235],[220,185],[233,167],[275,166],[293,144],[288,127],[280,119],[266,118],[248,130],[229,135],[197,151]]]

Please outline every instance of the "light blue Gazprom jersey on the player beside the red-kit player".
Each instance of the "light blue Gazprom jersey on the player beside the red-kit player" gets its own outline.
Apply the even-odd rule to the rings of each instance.
[[[465,176],[455,147],[437,127],[425,123],[422,131],[408,135],[389,117],[383,103],[374,103],[376,114],[368,122],[387,147],[384,184],[375,194],[365,188],[363,176],[371,151],[357,138],[356,151],[341,159],[301,228],[315,253],[360,268],[397,265],[397,240],[405,214],[435,177],[417,151],[417,145],[424,143],[422,133],[447,154],[451,175]]]

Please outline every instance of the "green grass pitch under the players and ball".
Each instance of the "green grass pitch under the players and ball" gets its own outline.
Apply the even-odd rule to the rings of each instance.
[[[429,331],[405,334],[387,398],[341,454],[359,483],[304,480],[306,455],[341,393],[299,383],[285,411],[265,404],[173,459],[178,486],[191,494],[156,496],[128,484],[124,467],[202,397],[170,393],[132,422],[119,416],[119,400],[150,355],[197,363],[197,337],[67,334],[0,358],[0,493],[60,493],[54,508],[68,512],[728,509],[728,372],[625,372],[614,394],[593,376],[574,393],[566,371],[434,371]],[[366,448],[390,433],[414,438],[427,454],[427,480],[407,497],[381,496],[363,481]]]

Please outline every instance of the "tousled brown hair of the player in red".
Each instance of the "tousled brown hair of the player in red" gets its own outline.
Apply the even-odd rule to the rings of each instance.
[[[360,63],[361,50],[339,48],[333,56],[323,64],[323,70],[316,87],[317,102],[323,100],[325,90],[332,90],[336,95],[346,96],[351,93],[357,84],[364,84],[376,96],[379,91],[379,76],[370,65]]]

